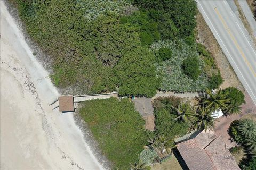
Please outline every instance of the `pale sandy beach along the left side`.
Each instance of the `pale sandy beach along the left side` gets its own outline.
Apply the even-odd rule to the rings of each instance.
[[[17,25],[1,6],[1,169],[103,169]]]

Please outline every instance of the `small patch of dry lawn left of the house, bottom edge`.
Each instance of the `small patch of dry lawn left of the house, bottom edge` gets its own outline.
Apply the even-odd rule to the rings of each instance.
[[[151,167],[151,170],[182,170],[178,160],[176,157],[172,154],[172,156],[167,159],[162,164],[155,164],[153,167]]]

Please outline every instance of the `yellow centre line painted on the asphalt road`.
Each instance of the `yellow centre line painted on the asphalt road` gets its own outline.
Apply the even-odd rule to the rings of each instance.
[[[242,55],[242,57],[244,58],[245,63],[249,66],[249,69],[252,71],[254,77],[256,77],[256,73],[252,68],[252,65],[249,63],[249,61],[247,60],[247,58],[244,55],[243,50],[241,49],[241,47],[238,45],[235,37],[233,36],[233,34],[231,33],[230,29],[228,28],[228,25],[226,24],[225,20],[222,18],[222,16],[220,15],[220,12],[217,10],[217,7],[214,7],[214,11],[217,13],[217,15],[220,18],[220,21],[222,22],[222,24],[224,25],[225,29],[227,30],[229,36],[231,37],[232,41],[234,42],[236,48],[239,50],[239,53]]]

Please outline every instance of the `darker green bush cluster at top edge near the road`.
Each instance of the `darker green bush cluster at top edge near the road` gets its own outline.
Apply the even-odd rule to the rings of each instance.
[[[158,32],[163,39],[180,37],[191,41],[196,27],[196,2],[193,0],[151,1],[133,0],[133,4],[146,11],[149,18],[156,21]],[[192,38],[194,43],[195,39]]]

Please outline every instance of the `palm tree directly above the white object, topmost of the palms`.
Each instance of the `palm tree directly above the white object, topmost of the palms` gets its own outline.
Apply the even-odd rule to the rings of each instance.
[[[217,92],[211,92],[211,90],[206,89],[206,96],[200,97],[200,103],[213,110],[227,108],[227,103],[229,103],[230,100],[227,99],[226,96],[227,94],[223,93],[221,89]]]

